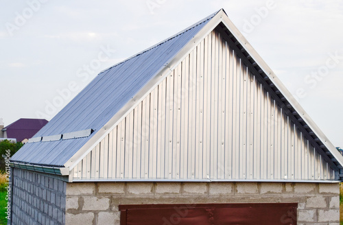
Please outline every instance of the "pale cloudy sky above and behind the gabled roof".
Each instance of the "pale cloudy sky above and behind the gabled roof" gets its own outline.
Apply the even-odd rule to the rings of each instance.
[[[224,8],[343,147],[342,0],[1,0],[0,118],[51,119],[102,70]]]

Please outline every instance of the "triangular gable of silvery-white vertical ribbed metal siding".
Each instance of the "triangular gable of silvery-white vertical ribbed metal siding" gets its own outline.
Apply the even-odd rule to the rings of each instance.
[[[215,31],[74,168],[74,180],[331,179]]]

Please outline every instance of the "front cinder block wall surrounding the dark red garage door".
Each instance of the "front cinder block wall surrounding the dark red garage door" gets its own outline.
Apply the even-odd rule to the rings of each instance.
[[[298,225],[339,225],[338,183],[67,183],[66,224],[119,224],[119,204],[298,202]]]

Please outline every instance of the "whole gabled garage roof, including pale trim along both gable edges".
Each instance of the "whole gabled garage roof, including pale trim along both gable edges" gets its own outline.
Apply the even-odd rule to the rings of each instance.
[[[228,19],[224,10],[211,14],[162,43],[99,73],[35,135],[31,143],[27,143],[12,157],[12,164],[66,167],[67,171],[71,171],[132,108],[137,106],[146,93],[161,82],[167,73],[217,26],[220,26],[226,32],[226,36],[235,43],[235,53],[242,62],[250,71],[263,78],[264,88],[280,103],[283,112],[287,113],[320,156],[335,171],[339,171],[342,177],[343,156]],[[75,135],[78,138],[63,139],[63,134],[69,133],[67,136],[73,136],[71,132],[78,133],[91,129],[94,132],[89,132],[85,136]],[[43,141],[44,139],[55,141]]]

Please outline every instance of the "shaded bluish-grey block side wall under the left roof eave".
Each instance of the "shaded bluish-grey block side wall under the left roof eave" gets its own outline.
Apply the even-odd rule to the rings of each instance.
[[[58,176],[13,168],[9,224],[64,224],[66,182]]]

